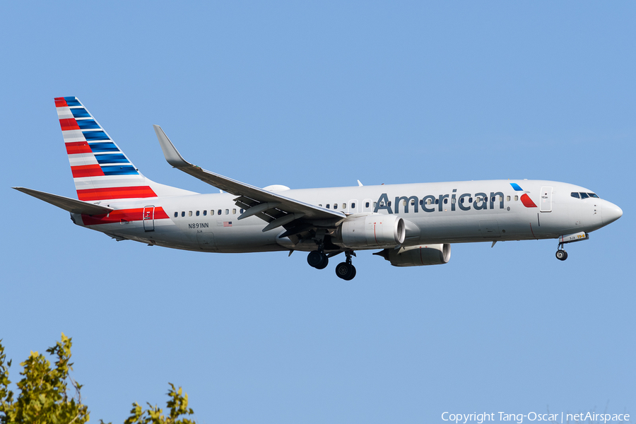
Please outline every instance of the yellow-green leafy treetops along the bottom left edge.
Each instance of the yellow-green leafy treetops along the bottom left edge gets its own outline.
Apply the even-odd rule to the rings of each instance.
[[[61,341],[47,349],[47,353],[56,358],[54,366],[44,355],[31,352],[29,358],[20,365],[23,376],[18,387],[18,396],[9,389],[9,368],[11,360],[6,361],[4,346],[0,340],[0,424],[83,424],[88,421],[88,406],[82,403],[81,384],[73,380],[69,372],[73,370],[71,360],[71,338],[61,334]],[[69,394],[69,384],[74,394]],[[170,384],[167,395],[168,416],[158,406],[148,404],[143,410],[136,402],[131,409],[131,415],[124,424],[195,424],[194,420],[181,418],[194,414],[188,408],[188,395],[181,387],[175,389]],[[103,424],[103,421],[100,420]]]

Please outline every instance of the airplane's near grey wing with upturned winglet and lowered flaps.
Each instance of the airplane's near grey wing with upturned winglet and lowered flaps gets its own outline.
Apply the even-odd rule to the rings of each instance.
[[[242,213],[238,219],[244,219],[248,216],[258,216],[269,223],[263,229],[264,232],[283,225],[285,225],[285,228],[288,230],[290,228],[307,228],[307,225],[310,225],[310,223],[319,223],[320,221],[332,225],[336,221],[346,218],[346,215],[342,212],[331,211],[330,209],[290,199],[289,197],[268,192],[264,189],[259,189],[259,187],[223,177],[223,175],[218,175],[214,172],[206,171],[199,166],[192,165],[192,163],[187,162],[187,160],[179,154],[160,126],[153,125],[153,127],[155,128],[155,133],[157,134],[161,150],[163,150],[163,155],[167,163],[170,163],[170,165],[178,170],[182,170],[193,177],[201,179],[201,181],[237,196],[237,198],[234,199],[236,205],[245,209],[245,212]],[[331,226],[329,224],[327,225]]]

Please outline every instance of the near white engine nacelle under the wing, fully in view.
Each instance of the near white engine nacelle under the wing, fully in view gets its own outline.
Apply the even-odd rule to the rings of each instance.
[[[338,227],[336,245],[349,249],[396,247],[404,243],[406,225],[396,215],[379,213],[346,218]]]

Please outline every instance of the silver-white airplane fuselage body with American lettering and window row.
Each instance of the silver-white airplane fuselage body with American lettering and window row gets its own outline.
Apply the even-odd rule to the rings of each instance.
[[[599,198],[572,196],[579,192],[592,193],[563,182],[502,179],[290,189],[278,193],[351,215],[396,214],[407,224],[404,245],[408,246],[557,238],[591,232],[620,217],[618,206]],[[524,194],[534,206],[524,204]],[[115,211],[108,216],[73,214],[73,220],[118,239],[176,249],[315,249],[311,243],[294,245],[287,237],[278,238],[283,228],[263,232],[266,222],[256,216],[238,220],[242,210],[235,205],[236,197],[220,193],[110,201],[108,206]]]

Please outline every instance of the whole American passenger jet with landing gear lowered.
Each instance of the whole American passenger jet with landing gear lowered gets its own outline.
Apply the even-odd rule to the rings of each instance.
[[[355,277],[360,250],[393,266],[446,264],[451,243],[558,239],[565,245],[623,215],[615,204],[565,182],[497,179],[322,189],[254,187],[187,162],[154,125],[167,163],[220,189],[199,194],[144,177],[76,97],[55,98],[78,199],[13,187],[69,211],[114,240],[198,252],[308,252],[336,276]]]

